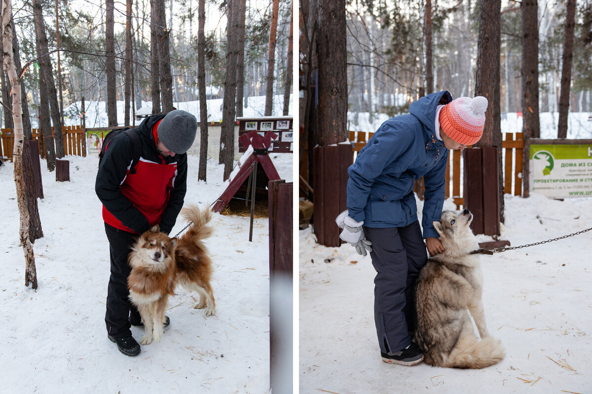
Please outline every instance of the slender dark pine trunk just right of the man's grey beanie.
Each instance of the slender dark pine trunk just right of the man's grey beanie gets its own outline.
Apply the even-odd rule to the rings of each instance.
[[[200,92],[200,170],[197,178],[205,181],[207,177],[208,163],[208,106],[205,99],[205,0],[199,0],[198,4],[198,32],[197,32],[197,80]]]

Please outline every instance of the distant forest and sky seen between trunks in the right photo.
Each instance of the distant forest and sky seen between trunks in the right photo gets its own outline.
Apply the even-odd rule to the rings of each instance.
[[[453,97],[475,95],[479,1],[432,1],[433,84]],[[346,7],[348,106],[392,117],[407,112],[426,84],[426,1],[352,0]],[[538,1],[539,110],[558,112],[567,1]],[[592,3],[577,1],[571,112],[592,102]],[[522,112],[520,2],[501,2],[500,110]],[[374,131],[374,130],[368,130]],[[519,130],[517,130],[519,131]]]

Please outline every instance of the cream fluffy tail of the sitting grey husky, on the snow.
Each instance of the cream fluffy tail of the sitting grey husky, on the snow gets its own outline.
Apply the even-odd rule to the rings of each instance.
[[[446,367],[480,369],[497,364],[504,359],[506,353],[501,347],[500,340],[486,337],[468,336],[461,339],[446,360]]]

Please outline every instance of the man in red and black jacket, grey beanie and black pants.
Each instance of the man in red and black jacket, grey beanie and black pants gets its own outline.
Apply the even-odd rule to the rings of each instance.
[[[140,140],[136,167],[131,168],[133,141],[126,133],[119,133],[106,146],[95,183],[96,196],[103,203],[111,258],[107,334],[127,356],[140,353],[130,326],[142,325],[139,312],[128,298],[127,256],[137,237],[150,227],[159,224],[162,232],[169,233],[175,225],[186,192],[186,151],[195,139],[197,120],[191,113],[173,110],[147,117],[136,131]]]

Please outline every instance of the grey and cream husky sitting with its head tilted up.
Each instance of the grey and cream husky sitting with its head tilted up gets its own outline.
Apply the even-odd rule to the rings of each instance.
[[[425,362],[433,366],[484,368],[504,358],[500,340],[485,325],[479,255],[469,254],[479,249],[469,229],[472,219],[468,209],[442,212],[433,224],[445,251],[430,258],[417,279],[416,340]]]

